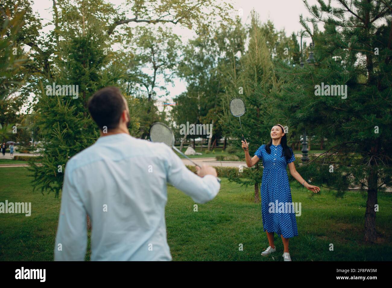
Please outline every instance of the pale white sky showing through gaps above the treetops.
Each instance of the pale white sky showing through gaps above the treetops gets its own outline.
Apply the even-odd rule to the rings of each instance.
[[[107,1],[114,5],[124,5],[123,0],[111,0]],[[217,0],[217,2],[222,2]],[[249,23],[250,11],[255,9],[259,14],[261,22],[271,20],[275,28],[278,30],[285,29],[286,35],[289,36],[292,32],[298,32],[301,30],[299,24],[299,15],[309,16],[305,5],[302,0],[233,0],[235,9],[243,9],[242,20],[243,23]],[[316,4],[316,0],[308,0],[310,5]],[[52,0],[34,0],[33,11],[37,11],[41,18],[44,18],[43,22],[47,23],[52,20]],[[132,15],[129,15],[130,17]],[[131,24],[131,25],[148,25],[148,24]],[[189,29],[182,28],[177,25],[172,25],[174,33],[181,36],[183,42],[186,42],[189,38],[193,38],[194,33]],[[46,27],[43,32],[49,31],[53,27]],[[309,42],[309,41],[307,41]],[[174,80],[174,85],[167,87],[170,92],[170,103],[172,97],[177,96],[181,92],[186,90],[186,83],[180,79]],[[157,90],[158,95],[160,94]],[[159,101],[160,103],[167,102],[164,99]],[[160,107],[161,108],[161,107]],[[162,110],[162,109],[160,109]]]

